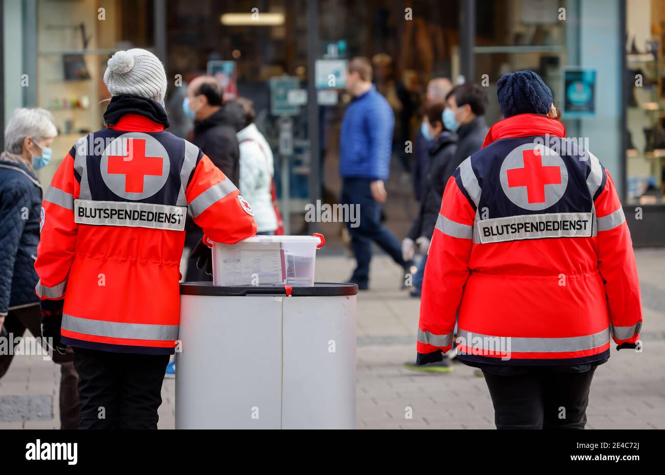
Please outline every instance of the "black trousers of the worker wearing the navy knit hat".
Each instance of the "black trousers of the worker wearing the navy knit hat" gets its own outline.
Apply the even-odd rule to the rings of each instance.
[[[534,368],[505,376],[483,371],[496,427],[583,429],[594,372],[595,368],[583,373]]]

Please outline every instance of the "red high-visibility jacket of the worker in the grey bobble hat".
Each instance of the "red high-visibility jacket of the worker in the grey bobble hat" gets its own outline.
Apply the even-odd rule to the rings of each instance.
[[[211,240],[255,235],[247,202],[192,143],[126,114],[72,147],[46,191],[37,295],[68,345],[173,353],[185,213]]]

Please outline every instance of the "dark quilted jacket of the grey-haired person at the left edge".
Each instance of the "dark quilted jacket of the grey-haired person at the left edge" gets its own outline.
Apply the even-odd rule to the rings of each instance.
[[[39,302],[35,294],[42,189],[22,165],[0,161],[0,315]]]

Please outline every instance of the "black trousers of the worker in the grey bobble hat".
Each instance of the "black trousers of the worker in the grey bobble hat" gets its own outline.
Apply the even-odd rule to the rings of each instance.
[[[74,348],[81,399],[78,428],[156,429],[169,355]]]

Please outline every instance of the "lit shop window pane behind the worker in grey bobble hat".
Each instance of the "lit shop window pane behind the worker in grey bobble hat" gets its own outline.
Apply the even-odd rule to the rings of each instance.
[[[153,44],[152,1],[37,1],[37,106],[51,111],[59,136],[37,172],[49,183],[78,138],[102,128],[106,61],[118,49]],[[34,54],[34,53],[32,53]],[[31,60],[27,52],[27,60]]]

